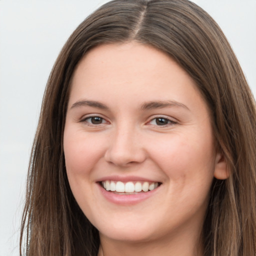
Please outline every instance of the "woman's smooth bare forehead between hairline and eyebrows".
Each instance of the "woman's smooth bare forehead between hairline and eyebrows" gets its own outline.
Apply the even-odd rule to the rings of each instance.
[[[120,89],[134,93],[144,89],[145,94],[149,90],[159,92],[163,83],[176,88],[189,84],[196,90],[193,79],[165,52],[129,42],[91,49],[74,71],[72,90],[90,88],[109,94],[109,88],[115,93]]]

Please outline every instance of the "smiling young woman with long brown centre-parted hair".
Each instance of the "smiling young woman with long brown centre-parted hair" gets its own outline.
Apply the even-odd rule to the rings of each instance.
[[[253,96],[205,11],[102,5],[48,79],[25,254],[254,255],[255,130]]]

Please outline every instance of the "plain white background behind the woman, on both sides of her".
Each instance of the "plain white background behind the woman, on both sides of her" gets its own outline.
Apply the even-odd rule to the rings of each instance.
[[[47,77],[106,0],[0,0],[0,256],[18,255],[25,177]],[[256,0],[194,0],[219,23],[256,95]]]

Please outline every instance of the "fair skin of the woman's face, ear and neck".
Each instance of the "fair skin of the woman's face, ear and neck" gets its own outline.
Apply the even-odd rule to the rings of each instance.
[[[172,104],[141,108],[149,101]],[[95,123],[91,116],[101,119]],[[165,125],[156,122],[160,117]],[[228,175],[215,151],[210,120],[192,78],[149,45],[100,45],[79,62],[66,113],[64,154],[74,197],[99,230],[98,255],[201,254],[212,179]],[[107,200],[97,182],[111,175],[161,185],[145,200],[120,205]]]

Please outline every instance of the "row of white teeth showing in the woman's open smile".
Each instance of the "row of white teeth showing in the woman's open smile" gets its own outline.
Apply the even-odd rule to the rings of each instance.
[[[154,190],[160,185],[159,182],[148,182],[148,181],[113,181],[113,180],[104,180],[100,182],[101,186],[106,191],[116,192],[118,194],[134,194],[140,192],[148,192]]]

